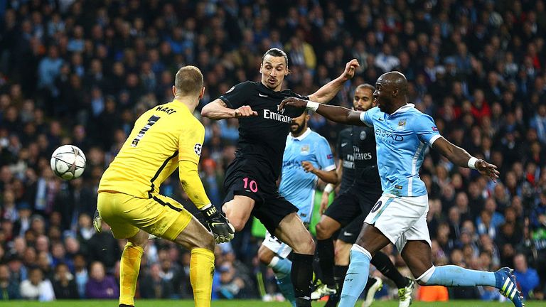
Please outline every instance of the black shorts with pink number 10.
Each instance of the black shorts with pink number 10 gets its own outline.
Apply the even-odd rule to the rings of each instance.
[[[274,235],[281,220],[291,212],[298,212],[298,208],[279,194],[275,176],[268,168],[251,161],[234,161],[230,164],[225,174],[224,203],[235,195],[252,198],[256,202],[252,215]]]

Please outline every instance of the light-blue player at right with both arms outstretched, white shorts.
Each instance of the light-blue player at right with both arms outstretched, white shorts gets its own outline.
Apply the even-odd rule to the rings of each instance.
[[[434,266],[427,227],[428,195],[419,168],[426,146],[460,167],[473,168],[496,180],[496,166],[474,158],[439,134],[432,117],[407,103],[407,80],[400,72],[387,72],[376,82],[373,97],[378,103],[365,112],[316,102],[288,98],[284,106],[307,107],[333,122],[368,125],[375,129],[378,167],[383,194],[366,217],[356,244],[350,251],[350,265],[341,292],[340,307],[353,307],[368,280],[370,259],[390,242],[404,258],[422,285],[494,286],[516,307],[523,298],[512,269],[475,271],[460,266]]]

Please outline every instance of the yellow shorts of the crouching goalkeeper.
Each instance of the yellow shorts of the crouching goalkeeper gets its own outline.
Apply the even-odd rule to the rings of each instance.
[[[134,237],[141,229],[173,241],[193,218],[176,200],[159,194],[152,198],[136,198],[102,191],[98,195],[97,208],[117,239]]]

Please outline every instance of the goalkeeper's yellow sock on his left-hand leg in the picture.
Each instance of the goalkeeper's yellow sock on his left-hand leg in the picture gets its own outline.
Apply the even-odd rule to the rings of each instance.
[[[140,259],[144,249],[127,242],[119,263],[119,304],[134,306],[134,291],[140,271]]]

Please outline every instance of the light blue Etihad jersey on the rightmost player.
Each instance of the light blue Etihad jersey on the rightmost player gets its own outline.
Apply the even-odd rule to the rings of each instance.
[[[360,114],[360,120],[373,126],[383,193],[400,196],[427,194],[419,178],[426,146],[440,136],[434,119],[406,104],[392,114],[378,107]]]

